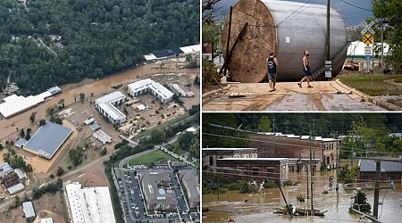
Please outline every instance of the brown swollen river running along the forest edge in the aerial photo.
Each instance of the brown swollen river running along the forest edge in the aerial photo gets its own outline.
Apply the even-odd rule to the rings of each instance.
[[[107,78],[87,83],[82,86],[80,84],[68,85],[62,87],[63,93],[60,95],[55,95],[51,100],[47,100],[45,103],[39,104],[37,107],[30,109],[29,111],[24,111],[20,114],[17,114],[7,120],[0,120],[0,140],[3,140],[6,136],[10,136],[12,133],[18,131],[21,128],[27,128],[29,126],[29,116],[32,112],[36,112],[36,121],[43,119],[46,117],[46,109],[54,104],[57,104],[60,99],[64,99],[64,104],[67,106],[71,103],[75,102],[75,97],[77,101],[80,101],[80,93],[84,93],[85,95],[90,95],[94,93],[94,95],[102,94],[102,93],[111,93],[114,91],[113,86],[119,85],[121,83],[129,83],[134,82],[141,78],[148,78],[152,75],[158,73],[197,73],[199,70],[197,69],[174,69],[170,68],[169,70],[158,70],[158,64],[147,64],[142,67],[138,67],[132,70],[126,70],[119,74],[109,76]],[[85,82],[88,82],[85,81]],[[74,88],[72,88],[72,87]],[[79,86],[79,87],[77,87]],[[72,88],[72,89],[71,89]],[[65,90],[69,89],[69,90]],[[15,139],[12,139],[15,140]]]

